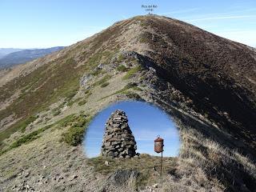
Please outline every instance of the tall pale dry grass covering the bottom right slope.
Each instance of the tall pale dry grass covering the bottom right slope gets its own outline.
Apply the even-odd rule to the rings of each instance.
[[[195,185],[193,189],[238,191],[243,186],[253,190],[256,166],[249,158],[204,138],[192,128],[181,130],[182,146],[176,177],[179,182]]]

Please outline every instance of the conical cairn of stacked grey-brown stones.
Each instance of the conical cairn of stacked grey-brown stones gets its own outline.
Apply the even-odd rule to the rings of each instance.
[[[102,156],[111,158],[132,158],[138,156],[134,135],[128,125],[126,113],[116,110],[106,122],[102,141]]]

